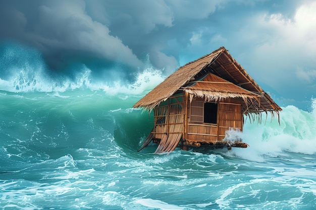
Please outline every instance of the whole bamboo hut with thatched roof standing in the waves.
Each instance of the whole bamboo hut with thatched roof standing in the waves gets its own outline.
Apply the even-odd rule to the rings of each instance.
[[[226,131],[242,131],[245,118],[261,122],[262,113],[282,109],[221,47],[180,67],[140,99],[154,114],[154,125],[143,143],[158,144],[155,153],[188,147],[246,148],[241,139],[227,141]]]

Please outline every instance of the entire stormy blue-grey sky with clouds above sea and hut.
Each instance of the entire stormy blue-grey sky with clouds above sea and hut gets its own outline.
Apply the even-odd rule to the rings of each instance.
[[[168,76],[224,46],[280,106],[308,110],[316,95],[311,0],[0,0],[4,43],[35,49],[50,71],[122,77],[148,63]]]

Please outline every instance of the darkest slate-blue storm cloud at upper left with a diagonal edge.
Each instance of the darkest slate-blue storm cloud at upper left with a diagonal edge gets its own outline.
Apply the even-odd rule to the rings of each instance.
[[[13,4],[15,2],[16,4]],[[21,5],[19,3],[22,3]],[[106,25],[92,20],[83,1],[1,2],[2,39],[14,39],[43,52],[58,67],[83,55],[120,61],[133,67],[142,63]]]

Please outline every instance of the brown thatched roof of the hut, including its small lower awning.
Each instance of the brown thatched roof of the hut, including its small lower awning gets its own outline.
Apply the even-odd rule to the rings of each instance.
[[[213,83],[203,84],[203,82],[197,82],[205,79],[205,75],[209,73],[212,73],[215,77],[207,76],[206,80]],[[218,78],[222,78],[226,84],[214,83],[220,82]],[[196,84],[191,86],[192,82]],[[262,111],[278,113],[282,110],[224,47],[181,66],[133,107],[143,107],[151,110],[161,102],[166,101],[178,90],[184,90],[192,94],[191,97],[203,95],[208,99],[241,97],[244,100],[246,99],[245,114],[260,113]]]

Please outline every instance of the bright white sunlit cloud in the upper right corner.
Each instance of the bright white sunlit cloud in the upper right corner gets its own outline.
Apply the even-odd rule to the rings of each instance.
[[[316,53],[316,3],[302,5],[297,9],[293,20],[286,19],[281,14],[273,14],[270,17],[260,16],[256,19],[261,30],[262,43],[258,43],[255,51],[259,56],[256,62],[269,58],[270,63],[286,67],[295,71],[296,65],[314,62]],[[254,24],[255,25],[255,24]],[[250,32],[251,33],[251,32]],[[281,56],[282,54],[282,56]],[[293,67],[294,65],[294,67]]]

